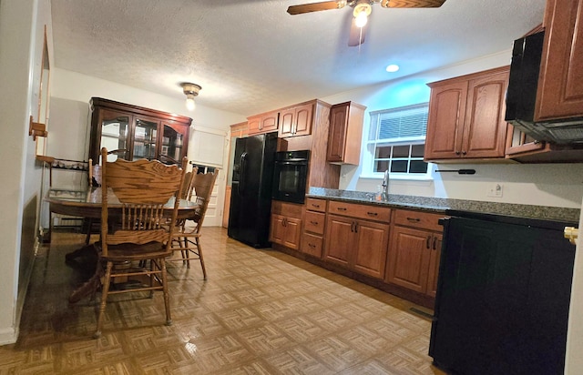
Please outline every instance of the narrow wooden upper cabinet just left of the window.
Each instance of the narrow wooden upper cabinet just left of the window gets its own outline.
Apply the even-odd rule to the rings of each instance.
[[[365,109],[353,102],[332,106],[326,156],[329,162],[359,165]]]

